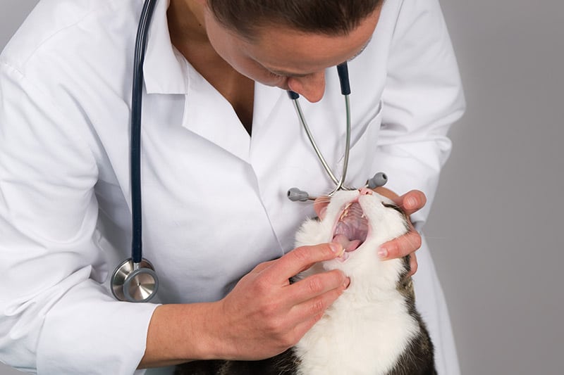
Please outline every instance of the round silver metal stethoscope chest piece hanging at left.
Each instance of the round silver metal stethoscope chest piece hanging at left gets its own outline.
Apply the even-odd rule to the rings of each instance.
[[[118,300],[147,302],[157,294],[158,289],[157,274],[151,262],[145,258],[138,265],[131,258],[124,260],[111,277],[111,293]]]

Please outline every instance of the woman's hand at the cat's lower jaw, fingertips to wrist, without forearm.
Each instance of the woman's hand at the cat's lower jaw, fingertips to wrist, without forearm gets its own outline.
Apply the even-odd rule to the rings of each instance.
[[[333,270],[294,284],[290,277],[316,262],[337,258],[336,243],[296,248],[283,257],[257,265],[219,301],[209,329],[217,335],[222,359],[259,360],[298,343],[339,295],[349,279]]]

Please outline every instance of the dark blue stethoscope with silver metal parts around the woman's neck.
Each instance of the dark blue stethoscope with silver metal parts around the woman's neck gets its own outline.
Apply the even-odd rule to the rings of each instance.
[[[133,59],[133,87],[132,87],[132,103],[131,103],[131,129],[130,129],[130,178],[131,178],[131,221],[132,221],[132,239],[131,239],[131,258],[123,260],[114,270],[111,277],[111,291],[118,300],[128,302],[147,302],[151,300],[159,289],[159,279],[151,262],[142,257],[142,220],[141,220],[141,109],[142,109],[142,87],[143,87],[143,62],[145,61],[145,49],[147,46],[147,35],[149,24],[152,19],[154,6],[157,0],[146,0],[141,11],[139,25],[137,27],[137,36],[135,37],[135,57]],[[350,83],[348,78],[347,63],[337,65],[339,81],[341,82],[341,94],[345,97],[346,108],[346,139],[345,139],[345,157],[343,159],[343,170],[341,177],[337,178],[325,158],[319,151],[312,132],[307,126],[307,122],[300,107],[298,98],[300,96],[288,91],[288,96],[293,101],[293,105],[300,124],[305,129],[307,138],[312,144],[321,165],[325,172],[336,184],[335,189],[329,193],[339,190],[352,190],[345,186],[345,179],[348,168],[348,158],[350,152]],[[369,179],[365,186],[374,189],[377,186],[383,186],[387,182],[386,174],[379,172]],[[317,197],[309,196],[306,191],[298,188],[288,190],[288,199],[290,201],[308,201]]]

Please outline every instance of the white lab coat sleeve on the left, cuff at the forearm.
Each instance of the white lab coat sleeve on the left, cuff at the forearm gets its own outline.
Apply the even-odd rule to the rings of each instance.
[[[0,360],[38,374],[133,374],[156,305],[103,282],[82,125],[0,63]]]

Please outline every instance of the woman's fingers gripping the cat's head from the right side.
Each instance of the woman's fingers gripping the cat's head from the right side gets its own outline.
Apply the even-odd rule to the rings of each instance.
[[[427,197],[419,190],[409,191],[408,193],[403,194],[403,196],[398,196],[393,191],[384,187],[378,187],[374,190],[377,193],[390,198],[399,205],[407,217],[412,215],[412,213],[421,210],[425,203],[427,203]],[[411,276],[417,271],[417,258],[415,256],[415,251],[421,247],[421,235],[415,230],[411,221],[408,220],[408,222],[410,225],[410,231],[397,239],[384,243],[380,246],[378,255],[381,259],[402,258],[409,255],[410,272],[408,276]]]

